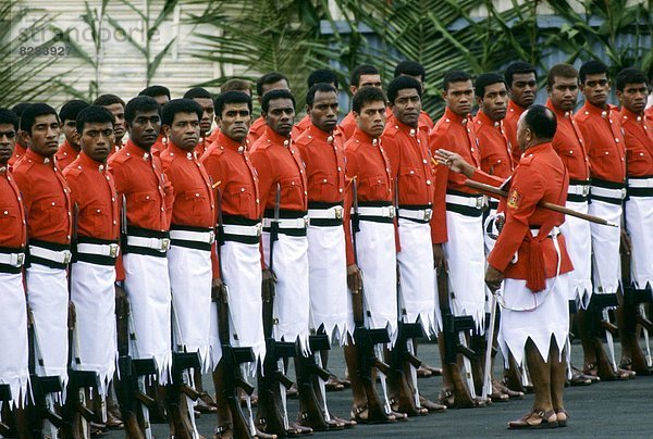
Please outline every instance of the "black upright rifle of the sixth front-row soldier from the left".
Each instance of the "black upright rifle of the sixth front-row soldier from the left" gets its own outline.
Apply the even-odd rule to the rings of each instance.
[[[222,255],[221,247],[224,242],[224,226],[222,220],[222,191],[217,190],[218,201],[218,267],[220,271],[220,278],[224,281],[224,274],[222,272]],[[256,435],[254,427],[254,419],[251,415],[251,403],[249,397],[254,392],[254,387],[245,380],[243,377],[243,369],[241,367],[244,363],[250,363],[256,361],[254,351],[249,347],[233,347],[231,344],[230,336],[230,309],[229,309],[229,288],[223,284],[222,289],[213,291],[213,301],[218,305],[218,327],[220,336],[220,344],[222,346],[222,367],[224,368],[223,374],[223,392],[227,401],[229,409],[232,413],[234,436],[237,438],[251,438]],[[241,407],[241,400],[238,398],[238,389],[247,394],[247,405],[249,407],[249,417],[247,418]]]

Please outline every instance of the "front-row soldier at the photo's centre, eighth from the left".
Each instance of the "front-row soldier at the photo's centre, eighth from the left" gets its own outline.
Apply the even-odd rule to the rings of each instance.
[[[313,80],[319,80],[315,76]],[[311,86],[306,95],[309,125],[297,139],[297,149],[306,164],[308,179],[311,329],[325,334],[330,342],[343,346],[354,334],[343,227],[345,163],[342,134],[337,130],[337,89],[328,84],[328,79]],[[332,79],[337,83],[335,75]],[[350,269],[358,271],[355,266]],[[326,366],[326,351],[321,356]],[[333,389],[340,390],[344,388],[341,382],[345,381],[332,375],[325,386],[329,388],[331,384]],[[343,426],[353,426],[345,419],[333,419]]]

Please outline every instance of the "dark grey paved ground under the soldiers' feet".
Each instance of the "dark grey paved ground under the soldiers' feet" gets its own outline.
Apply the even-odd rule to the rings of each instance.
[[[436,346],[420,346],[420,356],[432,365],[439,365]],[[501,356],[501,355],[500,355]],[[497,358],[498,360],[498,358]],[[501,360],[497,361],[497,364]],[[572,361],[581,364],[581,349],[572,347]],[[344,363],[342,350],[332,350],[330,368],[343,376]],[[291,374],[291,376],[293,376]],[[205,377],[207,385],[208,376]],[[442,386],[442,379],[424,378],[418,381],[420,391],[434,399]],[[210,387],[207,386],[207,389]],[[330,392],[329,407],[333,413],[344,417],[350,410],[350,391]],[[410,418],[408,422],[362,426],[347,431],[321,432],[313,437],[331,438],[433,438],[433,437],[624,437],[651,438],[653,436],[653,377],[637,377],[619,382],[600,382],[589,387],[567,388],[565,393],[566,409],[570,412],[569,425],[566,428],[535,431],[508,431],[506,423],[521,417],[532,404],[532,396],[523,400],[495,403],[483,409],[449,410],[442,414]],[[640,407],[640,410],[638,410]],[[289,401],[289,413],[296,413],[297,401]],[[197,419],[200,434],[211,438],[214,418],[202,415]],[[157,438],[165,438],[168,428],[155,425]],[[122,438],[122,431],[111,432],[104,438]]]

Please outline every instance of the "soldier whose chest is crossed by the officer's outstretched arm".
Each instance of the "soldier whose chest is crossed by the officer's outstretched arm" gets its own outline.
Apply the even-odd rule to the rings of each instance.
[[[444,76],[443,97],[446,102],[444,115],[431,131],[431,151],[444,148],[459,153],[466,161],[480,168],[481,154],[470,116],[473,103],[471,77],[460,71]],[[449,173],[446,166],[436,170],[433,203],[433,255],[435,266],[448,266],[448,294],[439,291],[441,310],[451,309],[453,316],[469,315],[476,325],[473,342],[480,342],[484,330],[485,266],[482,214],[485,200],[482,195],[465,186],[465,177]],[[446,209],[444,204],[446,203]],[[457,337],[457,335],[445,335]],[[441,343],[442,346],[443,343]],[[482,344],[481,344],[482,346]],[[478,352],[477,352],[478,354]],[[467,367],[469,368],[469,364]],[[457,380],[444,368],[441,403],[445,405],[473,405],[475,389],[458,386]],[[456,374],[456,371],[453,371]],[[471,371],[466,371],[471,374]],[[480,367],[477,368],[476,386],[480,386]]]

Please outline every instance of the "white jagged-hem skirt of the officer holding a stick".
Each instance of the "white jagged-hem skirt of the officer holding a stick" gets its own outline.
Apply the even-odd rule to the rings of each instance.
[[[546,279],[546,289],[534,294],[526,287],[526,280],[504,280],[498,344],[506,359],[506,367],[508,352],[515,356],[517,364],[522,364],[523,349],[529,338],[535,343],[542,359],[546,360],[553,336],[562,355],[569,335],[568,289],[568,274]]]

